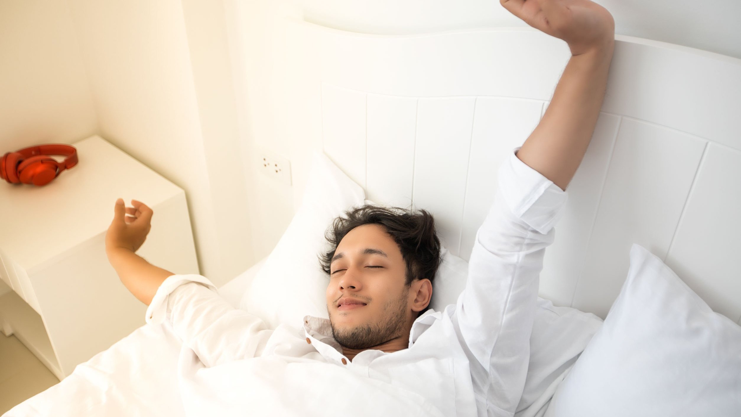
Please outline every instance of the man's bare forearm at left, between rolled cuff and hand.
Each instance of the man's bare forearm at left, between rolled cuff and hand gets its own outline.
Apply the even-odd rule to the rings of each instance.
[[[116,269],[124,286],[147,306],[159,289],[160,284],[170,275],[175,275],[166,269],[153,266],[127,249],[112,249],[106,252],[108,261]]]

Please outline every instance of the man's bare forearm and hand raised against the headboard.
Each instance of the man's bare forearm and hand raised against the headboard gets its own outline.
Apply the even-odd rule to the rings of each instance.
[[[615,22],[589,0],[501,0],[505,9],[571,49],[551,104],[517,157],[565,190],[582,162],[605,97]]]

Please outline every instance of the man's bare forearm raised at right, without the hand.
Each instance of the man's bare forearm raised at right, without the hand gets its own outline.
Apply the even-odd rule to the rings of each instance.
[[[579,168],[605,98],[614,41],[571,56],[551,104],[517,157],[565,190]]]

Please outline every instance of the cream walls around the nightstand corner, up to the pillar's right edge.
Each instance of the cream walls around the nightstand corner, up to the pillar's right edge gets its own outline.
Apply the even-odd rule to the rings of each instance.
[[[1,152],[100,134],[185,189],[217,286],[255,262],[226,27],[220,1],[0,2]]]

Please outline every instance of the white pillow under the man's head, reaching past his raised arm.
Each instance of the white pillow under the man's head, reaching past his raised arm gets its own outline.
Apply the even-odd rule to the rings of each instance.
[[[316,153],[299,210],[265,266],[255,275],[240,308],[265,319],[272,329],[279,324],[300,326],[305,315],[328,318],[328,277],[317,255],[329,250],[325,231],[347,209],[372,203],[324,154]],[[468,262],[447,249],[433,280],[431,308],[442,311],[456,303],[468,278]],[[531,360],[517,417],[533,416],[553,395],[556,382],[576,361],[602,325],[596,315],[538,300],[531,335]],[[531,407],[535,405],[535,407]]]

